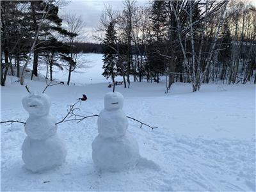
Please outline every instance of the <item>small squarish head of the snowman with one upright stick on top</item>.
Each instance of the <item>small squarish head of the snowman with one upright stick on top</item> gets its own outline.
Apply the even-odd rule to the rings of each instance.
[[[104,97],[104,108],[108,111],[122,109],[124,97],[119,92],[108,92]]]

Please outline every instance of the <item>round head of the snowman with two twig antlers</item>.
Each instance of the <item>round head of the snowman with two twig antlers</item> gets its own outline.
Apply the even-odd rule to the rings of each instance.
[[[22,99],[22,105],[29,115],[48,115],[51,108],[51,99],[45,93],[30,92]]]

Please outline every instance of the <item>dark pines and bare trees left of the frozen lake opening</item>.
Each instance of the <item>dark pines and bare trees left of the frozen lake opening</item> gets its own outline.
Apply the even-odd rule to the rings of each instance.
[[[26,67],[33,62],[31,79],[38,76],[38,63],[43,61],[46,78],[52,77],[52,67],[68,70],[67,84],[71,73],[84,65],[79,49],[85,44],[76,40],[83,32],[83,20],[75,14],[58,15],[65,1],[1,1],[1,86],[8,72],[24,83]],[[88,44],[92,51],[99,46]]]

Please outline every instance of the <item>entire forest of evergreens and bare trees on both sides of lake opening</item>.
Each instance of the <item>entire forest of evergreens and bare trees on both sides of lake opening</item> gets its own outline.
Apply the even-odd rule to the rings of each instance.
[[[122,10],[106,5],[93,35],[83,42],[86,20],[59,15],[65,1],[1,2],[1,86],[6,76],[20,84],[33,63],[67,70],[67,84],[76,68],[84,67],[82,52],[103,54],[103,76],[115,83],[164,81],[173,83],[256,83],[256,7],[250,1],[150,1],[139,6],[125,0]]]

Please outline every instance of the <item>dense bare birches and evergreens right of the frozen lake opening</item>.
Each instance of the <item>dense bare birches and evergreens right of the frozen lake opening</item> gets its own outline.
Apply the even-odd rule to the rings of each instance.
[[[159,82],[256,83],[256,8],[248,1],[152,1],[100,17],[105,77]],[[254,73],[253,73],[254,72]]]

